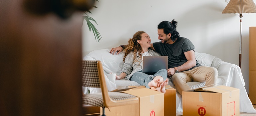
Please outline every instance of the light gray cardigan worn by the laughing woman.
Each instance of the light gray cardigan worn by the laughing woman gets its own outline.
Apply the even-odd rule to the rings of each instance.
[[[148,52],[150,54],[152,54],[153,56],[159,56],[159,54],[157,52],[154,52],[151,49],[148,49]],[[132,77],[132,75],[135,72],[142,70],[142,61],[140,59],[138,52],[136,53],[135,59],[133,58],[133,56],[134,56],[133,52],[130,52],[124,60],[124,66],[123,66],[121,73],[126,74],[125,79],[131,80],[130,78]],[[139,59],[139,60],[137,60],[137,59]]]

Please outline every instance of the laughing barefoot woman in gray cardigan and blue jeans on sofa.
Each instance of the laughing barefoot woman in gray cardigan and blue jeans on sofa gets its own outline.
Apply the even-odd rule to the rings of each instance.
[[[121,74],[116,75],[116,79],[126,78],[147,88],[165,93],[165,86],[168,84],[166,69],[159,70],[154,75],[147,75],[142,72],[143,56],[158,56],[156,52],[150,49],[151,39],[149,35],[144,31],[138,31],[128,42],[129,45],[125,48],[123,58],[124,66]]]

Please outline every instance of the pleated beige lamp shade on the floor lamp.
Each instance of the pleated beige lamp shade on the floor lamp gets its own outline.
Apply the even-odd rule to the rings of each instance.
[[[253,0],[230,0],[222,11],[222,14],[225,13],[256,13],[256,5]]]

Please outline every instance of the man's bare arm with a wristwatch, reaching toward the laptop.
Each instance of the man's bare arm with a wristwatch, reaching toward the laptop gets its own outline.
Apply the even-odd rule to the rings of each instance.
[[[196,65],[195,53],[194,53],[193,50],[184,52],[184,54],[185,54],[185,57],[187,58],[188,61],[185,62],[183,65],[176,67],[179,70],[179,72],[186,71],[186,70],[188,70],[188,69],[190,69],[190,68],[192,68]],[[174,68],[168,69],[168,72],[167,72],[168,77],[170,77],[174,74],[175,74],[175,69]]]

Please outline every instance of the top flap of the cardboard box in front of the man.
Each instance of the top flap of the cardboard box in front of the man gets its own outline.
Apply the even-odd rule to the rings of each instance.
[[[238,88],[219,85],[219,86],[214,86],[214,87],[205,87],[202,89],[212,91],[212,92],[217,92],[217,93],[227,93],[227,92],[237,90]]]

